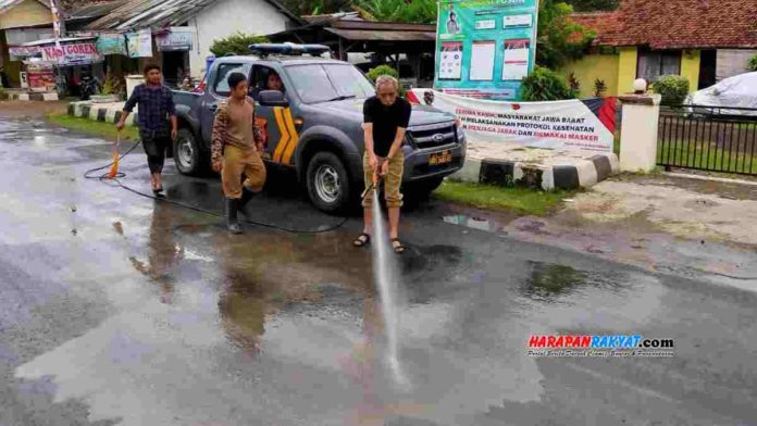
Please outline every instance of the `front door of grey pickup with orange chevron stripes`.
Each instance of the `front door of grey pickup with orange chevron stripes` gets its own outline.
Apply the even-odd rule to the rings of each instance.
[[[298,135],[291,111],[288,108],[262,106],[257,102],[258,95],[263,90],[280,90],[286,96],[286,89],[282,76],[272,67],[259,64],[252,67],[250,95],[256,100],[256,122],[266,136],[263,158],[274,163],[293,165]]]

